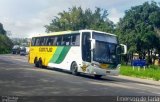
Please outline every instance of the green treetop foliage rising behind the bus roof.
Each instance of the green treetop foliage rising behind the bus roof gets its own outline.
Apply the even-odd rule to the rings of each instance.
[[[58,17],[45,27],[47,32],[93,29],[111,33],[114,31],[114,24],[107,16],[107,10],[100,8],[92,12],[90,9],[72,7],[69,11],[60,12]]]

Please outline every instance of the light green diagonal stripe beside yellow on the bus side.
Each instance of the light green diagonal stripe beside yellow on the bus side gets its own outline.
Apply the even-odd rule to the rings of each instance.
[[[63,46],[57,47],[56,52],[54,53],[54,55],[52,56],[52,58],[49,62],[56,63],[57,59],[59,58],[59,55],[61,54],[61,52],[63,50],[63,48],[64,48]]]

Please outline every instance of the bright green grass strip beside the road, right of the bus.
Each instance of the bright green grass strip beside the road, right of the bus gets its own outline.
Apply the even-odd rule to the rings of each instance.
[[[153,80],[158,81],[160,80],[160,67],[152,65],[150,66],[150,68],[146,68],[145,70],[143,68],[140,68],[140,70],[138,70],[138,67],[135,67],[133,70],[132,66],[122,65],[120,74],[139,78],[152,78]]]

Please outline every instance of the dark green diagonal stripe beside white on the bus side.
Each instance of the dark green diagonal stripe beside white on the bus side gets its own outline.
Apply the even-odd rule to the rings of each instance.
[[[58,60],[56,61],[57,64],[60,64],[64,60],[64,58],[66,57],[66,55],[69,52],[70,48],[71,48],[70,46],[65,46],[63,48],[61,54],[59,55]]]

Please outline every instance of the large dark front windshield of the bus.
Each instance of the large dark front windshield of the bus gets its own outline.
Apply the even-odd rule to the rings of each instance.
[[[117,63],[117,38],[106,34],[93,33],[96,40],[93,60],[100,63]]]

